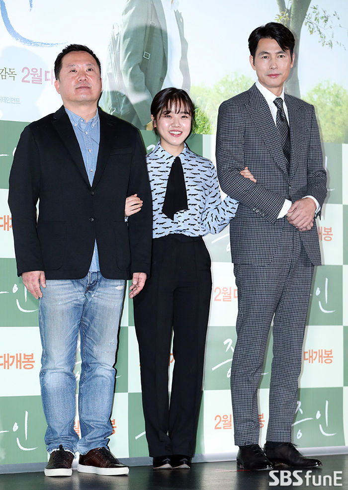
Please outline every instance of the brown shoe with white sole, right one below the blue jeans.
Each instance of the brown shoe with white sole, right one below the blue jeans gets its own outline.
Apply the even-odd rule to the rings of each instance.
[[[128,475],[129,468],[122,465],[107,447],[97,447],[80,455],[78,471],[97,475]]]

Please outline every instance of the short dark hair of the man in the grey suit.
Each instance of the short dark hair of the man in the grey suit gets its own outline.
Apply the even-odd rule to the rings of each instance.
[[[267,24],[254,29],[249,36],[249,51],[254,61],[259,41],[264,38],[274,39],[283,51],[286,51],[287,49],[290,51],[290,56],[292,58],[295,46],[295,38],[292,32],[283,24],[279,24],[278,22],[268,22]]]

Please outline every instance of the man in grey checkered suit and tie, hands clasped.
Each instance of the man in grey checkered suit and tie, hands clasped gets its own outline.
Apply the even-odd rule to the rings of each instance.
[[[219,109],[216,159],[221,188],[240,201],[230,224],[238,287],[231,371],[237,465],[320,466],[291,444],[302,343],[314,265],[321,263],[314,218],[326,172],[314,107],[284,94],[294,37],[269,22],[249,37],[258,81]],[[256,182],[240,175],[248,166]],[[258,385],[273,319],[273,361],[265,452],[259,446]]]

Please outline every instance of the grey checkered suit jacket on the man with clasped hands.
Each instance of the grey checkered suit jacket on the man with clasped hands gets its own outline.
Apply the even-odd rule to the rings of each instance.
[[[306,195],[323,205],[326,172],[314,107],[285,94],[290,126],[290,172],[269,107],[254,84],[219,108],[216,162],[221,188],[238,199],[230,224],[232,262],[267,265],[281,240],[284,220],[277,216],[284,199]],[[248,166],[257,182],[243,177]],[[300,232],[298,232],[300,233]],[[307,254],[320,265],[316,225],[300,233]]]

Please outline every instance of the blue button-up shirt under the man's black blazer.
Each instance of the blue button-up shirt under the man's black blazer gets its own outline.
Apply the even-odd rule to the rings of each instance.
[[[90,185],[92,185],[95,169],[96,169],[96,160],[98,157],[99,140],[100,140],[100,123],[99,123],[98,111],[96,111],[96,114],[92,119],[89,119],[89,121],[86,122],[85,119],[78,116],[77,114],[67,109],[66,107],[65,110],[73,125],[76,138],[80,145],[82,157],[84,159],[88,180]],[[96,246],[96,241],[95,241],[93,256],[89,266],[89,271],[96,272],[98,270],[99,270],[98,248]]]

